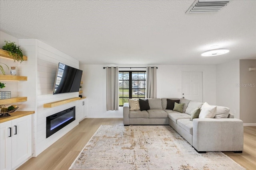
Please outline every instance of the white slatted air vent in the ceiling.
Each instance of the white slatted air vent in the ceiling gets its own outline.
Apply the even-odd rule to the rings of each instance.
[[[227,0],[195,0],[186,14],[200,12],[218,12],[228,4]]]

